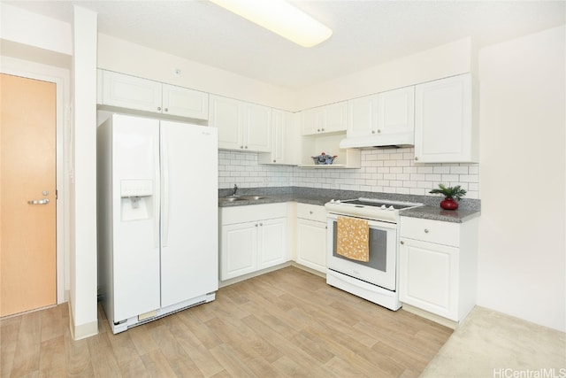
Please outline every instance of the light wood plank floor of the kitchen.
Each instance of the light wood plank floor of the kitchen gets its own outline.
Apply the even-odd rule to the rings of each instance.
[[[76,342],[66,304],[1,320],[2,377],[416,377],[452,333],[292,266],[119,335],[99,319]]]

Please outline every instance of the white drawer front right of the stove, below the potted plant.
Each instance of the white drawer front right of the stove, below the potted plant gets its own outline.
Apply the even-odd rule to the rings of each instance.
[[[460,224],[401,217],[401,236],[458,247],[460,244]]]

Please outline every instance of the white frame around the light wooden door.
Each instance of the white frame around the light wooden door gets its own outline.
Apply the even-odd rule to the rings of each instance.
[[[73,127],[71,125],[70,70],[47,66],[18,58],[0,57],[0,72],[28,79],[49,81],[57,87],[56,111],[56,256],[57,256],[57,305],[69,299],[70,286],[70,240],[69,235],[69,188],[72,180],[71,157],[73,151]],[[65,174],[69,173],[69,174]]]

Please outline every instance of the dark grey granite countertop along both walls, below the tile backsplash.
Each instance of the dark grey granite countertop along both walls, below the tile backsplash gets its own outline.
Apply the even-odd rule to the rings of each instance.
[[[362,192],[355,190],[316,189],[302,187],[280,188],[241,188],[239,196],[262,196],[262,199],[223,201],[222,197],[232,194],[232,189],[218,190],[218,207],[244,206],[250,204],[276,204],[281,202],[298,202],[302,204],[324,205],[331,199],[351,199],[357,197],[379,198],[391,201],[406,201],[424,204],[424,206],[402,210],[401,216],[422,218],[426,220],[441,220],[462,223],[480,215],[480,201],[478,199],[463,199],[458,210],[444,210],[440,207],[442,197],[411,196],[391,193]]]

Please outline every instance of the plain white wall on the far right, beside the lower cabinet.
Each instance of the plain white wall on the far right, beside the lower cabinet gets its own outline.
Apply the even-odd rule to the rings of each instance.
[[[480,50],[478,304],[566,330],[564,27]]]

